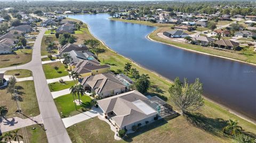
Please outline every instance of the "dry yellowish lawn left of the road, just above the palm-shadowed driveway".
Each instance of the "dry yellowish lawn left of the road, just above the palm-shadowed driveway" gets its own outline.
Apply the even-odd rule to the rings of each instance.
[[[37,104],[37,98],[35,93],[34,81],[21,81],[16,83],[16,89],[20,95],[20,104],[23,114],[26,116],[39,115],[39,108]],[[12,99],[11,94],[7,93],[7,89],[0,89],[0,105],[7,106],[7,117],[18,116],[17,103]],[[31,114],[31,115],[30,115]]]

